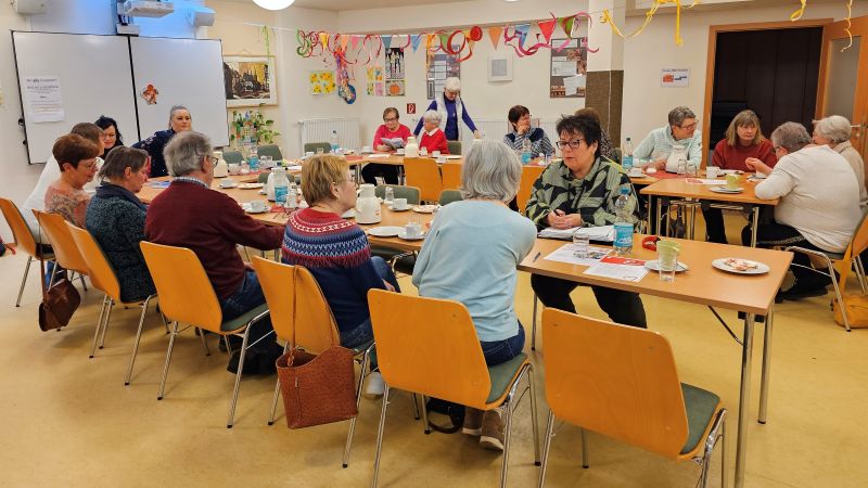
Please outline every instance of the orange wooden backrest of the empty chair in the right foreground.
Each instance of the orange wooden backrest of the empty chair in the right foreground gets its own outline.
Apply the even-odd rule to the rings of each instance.
[[[678,457],[687,413],[665,337],[547,308],[542,343],[546,399],[558,419]]]

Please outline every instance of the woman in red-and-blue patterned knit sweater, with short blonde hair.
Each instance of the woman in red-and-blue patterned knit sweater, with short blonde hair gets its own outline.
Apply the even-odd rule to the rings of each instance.
[[[341,218],[356,206],[356,184],[346,159],[329,154],[310,158],[302,168],[302,193],[310,206],[286,222],[283,262],[310,270],[337,322],[341,345],[360,346],[373,339],[368,291],[400,292],[398,282],[383,258],[371,257],[365,231]],[[375,364],[371,357],[371,368]],[[383,380],[372,373],[366,395],[382,393]]]

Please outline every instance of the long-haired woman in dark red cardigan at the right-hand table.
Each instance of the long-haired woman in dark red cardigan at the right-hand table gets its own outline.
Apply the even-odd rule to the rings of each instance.
[[[712,166],[751,172],[752,169],[744,164],[749,158],[760,159],[768,167],[778,163],[771,142],[763,136],[760,117],[753,111],[742,111],[729,123],[726,139],[714,146]],[[726,244],[723,211],[719,208],[709,208],[702,210],[702,216],[705,217],[707,241]]]

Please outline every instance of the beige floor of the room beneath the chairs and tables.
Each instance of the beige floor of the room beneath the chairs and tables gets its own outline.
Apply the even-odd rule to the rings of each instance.
[[[0,259],[0,486],[368,486],[379,401],[362,400],[350,465],[341,468],[347,423],[302,431],[266,425],[273,377],[242,382],[233,429],[225,426],[233,376],[212,339],[210,357],[188,331],[179,338],[166,398],[156,401],[166,336],[150,314],[132,385],[123,376],[138,310],[116,310],[106,347],[88,359],[101,296],[84,305],[62,332],[42,333],[36,317],[37,273],[21,308],[14,307],[25,259]],[[409,280],[403,283],[411,288]],[[528,277],[520,274],[516,310],[529,328]],[[589,290],[575,294],[579,310],[601,317]],[[748,453],[749,487],[868,486],[868,331],[845,333],[833,323],[828,299],[778,306],[773,345],[768,424],[755,422],[758,367],[754,369]],[[707,309],[644,297],[651,329],[673,344],[681,381],[719,394],[732,420],[738,401],[741,348]],[[735,323],[735,312],[723,312]],[[529,330],[528,330],[529,332]],[[740,329],[739,329],[740,332]],[[762,329],[754,357],[758,364]],[[529,334],[528,334],[529,337]],[[529,341],[528,341],[529,351]],[[531,356],[541,380],[545,350]],[[545,390],[539,382],[540,428]],[[282,422],[282,419],[279,420]],[[728,425],[735,439],[735,422]],[[511,486],[533,486],[529,401],[514,422]],[[590,434],[591,467],[583,470],[575,427],[560,424],[552,446],[549,486],[692,487],[699,468]],[[460,434],[422,434],[409,396],[391,403],[381,486],[496,486],[500,457]],[[731,474],[735,442],[728,445]],[[719,484],[719,454],[712,486]]]

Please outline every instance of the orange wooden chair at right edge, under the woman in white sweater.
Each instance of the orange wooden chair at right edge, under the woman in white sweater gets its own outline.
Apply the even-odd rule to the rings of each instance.
[[[809,258],[814,258],[819,260],[820,262],[825,262],[827,265],[827,272],[820,271],[813,267],[806,267],[802,265],[793,264],[792,266],[800,266],[805,269],[809,269],[816,273],[829,277],[832,280],[832,288],[834,290],[834,297],[839,304],[843,306],[843,292],[844,285],[847,280],[847,274],[850,273],[851,267],[856,269],[856,275],[859,280],[859,285],[861,286],[863,294],[866,292],[866,279],[865,279],[865,268],[863,267],[861,259],[859,259],[859,255],[868,248],[868,214],[864,214],[861,217],[861,221],[856,227],[855,232],[853,232],[853,237],[850,240],[850,244],[844,253],[832,253],[829,251],[816,251],[816,249],[808,249],[806,247],[800,246],[788,246],[783,251],[792,251],[794,253],[801,253],[807,255]],[[834,275],[832,275],[833,265],[838,264],[839,269],[841,271],[841,278],[835,280]],[[845,310],[845,307],[842,307],[842,310]],[[844,329],[847,332],[851,332],[850,329],[850,319],[847,319],[847,314],[842,312],[841,317],[844,320]],[[837,323],[837,322],[835,322]]]

